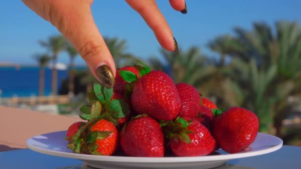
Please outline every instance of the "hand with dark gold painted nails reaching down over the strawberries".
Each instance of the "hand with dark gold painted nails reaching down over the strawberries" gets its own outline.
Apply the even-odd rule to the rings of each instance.
[[[39,16],[49,21],[75,47],[100,84],[115,83],[116,67],[92,16],[93,0],[22,0]],[[155,0],[126,0],[147,22],[160,45],[178,52],[172,31]],[[185,0],[169,0],[171,6],[186,13]]]

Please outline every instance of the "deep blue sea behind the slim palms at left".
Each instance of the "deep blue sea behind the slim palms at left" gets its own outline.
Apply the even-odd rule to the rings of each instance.
[[[77,69],[87,69],[79,67]],[[39,67],[0,67],[0,97],[39,95]],[[68,77],[67,70],[57,71],[57,88],[59,91],[63,79]],[[57,92],[58,92],[57,91]],[[51,69],[45,68],[45,95],[51,93]]]

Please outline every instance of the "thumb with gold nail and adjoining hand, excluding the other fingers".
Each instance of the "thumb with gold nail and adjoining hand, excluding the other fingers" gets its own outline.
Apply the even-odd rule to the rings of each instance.
[[[92,74],[106,88],[115,83],[116,67],[92,16],[93,0],[33,0],[29,5],[40,16],[54,25],[75,47]],[[41,4],[42,3],[42,4]],[[43,9],[41,12],[39,10]]]

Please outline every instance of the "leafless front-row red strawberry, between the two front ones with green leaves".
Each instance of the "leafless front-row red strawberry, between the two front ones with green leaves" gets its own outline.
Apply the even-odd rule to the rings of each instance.
[[[120,131],[123,152],[134,157],[163,157],[164,138],[160,125],[151,117],[137,117]]]

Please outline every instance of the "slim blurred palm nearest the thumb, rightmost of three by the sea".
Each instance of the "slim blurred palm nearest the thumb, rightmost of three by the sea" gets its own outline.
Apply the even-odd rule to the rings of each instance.
[[[67,44],[66,51],[68,52],[70,57],[68,90],[69,90],[69,95],[72,96],[74,94],[74,59],[78,55],[78,53],[70,43]]]

